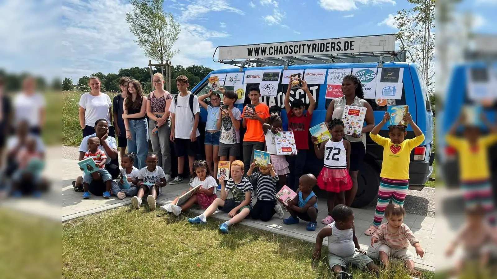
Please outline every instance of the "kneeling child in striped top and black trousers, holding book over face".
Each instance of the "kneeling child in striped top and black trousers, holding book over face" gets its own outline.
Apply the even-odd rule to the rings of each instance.
[[[253,172],[255,163],[250,164],[247,172],[249,180],[257,181],[257,203],[250,211],[252,219],[261,221],[269,221],[274,213],[278,213],[278,217],[283,219],[283,209],[276,204],[276,183],[278,183],[278,175],[273,169],[272,164],[267,164],[267,168],[259,168],[259,171]]]

